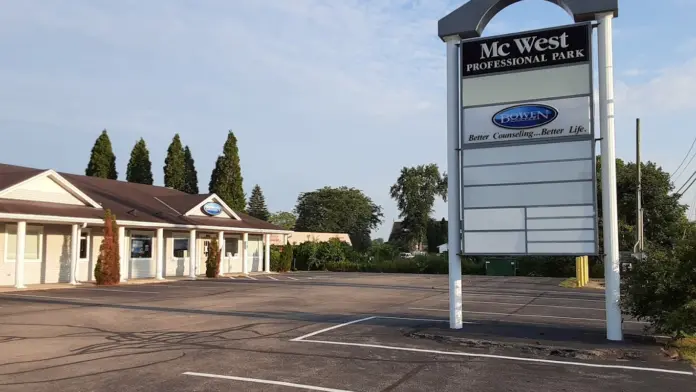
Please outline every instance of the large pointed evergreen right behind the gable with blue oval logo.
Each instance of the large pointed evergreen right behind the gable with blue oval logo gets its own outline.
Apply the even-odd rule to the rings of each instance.
[[[233,210],[244,211],[246,196],[242,188],[242,180],[237,138],[232,131],[229,131],[222,155],[218,157],[215,169],[210,176],[208,190],[220,196]]]

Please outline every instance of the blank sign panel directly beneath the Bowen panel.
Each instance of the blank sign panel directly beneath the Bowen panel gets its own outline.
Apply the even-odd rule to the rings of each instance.
[[[466,167],[564,159],[594,159],[592,143],[594,142],[583,140],[578,142],[468,149],[462,151],[462,164]]]

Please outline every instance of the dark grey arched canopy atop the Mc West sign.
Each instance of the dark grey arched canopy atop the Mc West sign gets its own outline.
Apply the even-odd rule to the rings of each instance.
[[[521,0],[470,0],[438,22],[440,38],[477,38],[498,12]],[[619,14],[619,0],[546,0],[558,5],[576,22],[595,20],[599,13]]]

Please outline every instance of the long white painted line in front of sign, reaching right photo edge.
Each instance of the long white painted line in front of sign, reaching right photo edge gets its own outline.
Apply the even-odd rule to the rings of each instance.
[[[381,349],[385,349],[385,350],[410,351],[410,352],[439,354],[439,355],[454,355],[454,356],[460,356],[460,357],[505,359],[505,360],[510,360],[510,361],[545,363],[545,364],[554,364],[554,365],[563,365],[563,366],[582,366],[582,367],[602,368],[602,369],[638,370],[638,371],[645,371],[645,372],[681,374],[681,375],[685,375],[685,376],[693,376],[694,375],[693,372],[681,371],[681,370],[658,369],[658,368],[648,368],[648,367],[638,367],[638,366],[602,365],[602,364],[584,363],[584,362],[570,362],[570,361],[566,362],[566,361],[555,361],[555,360],[551,360],[551,359],[511,357],[511,356],[505,356],[505,355],[477,354],[477,353],[466,353],[466,352],[457,352],[457,351],[426,350],[426,349],[420,349],[420,348],[384,346],[381,344],[330,342],[330,341],[325,341],[325,340],[302,340],[301,342],[302,343],[333,344],[333,345],[337,345],[337,346],[381,348]]]

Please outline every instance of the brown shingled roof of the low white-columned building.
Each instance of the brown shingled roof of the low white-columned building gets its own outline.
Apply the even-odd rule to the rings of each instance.
[[[43,172],[45,170],[0,164],[0,191]],[[119,221],[287,231],[239,211],[234,212],[241,220],[184,215],[209,198],[210,194],[191,195],[161,186],[70,173],[58,173],[58,175],[99,203],[103,209],[111,210]],[[104,217],[104,210],[89,206],[11,199],[0,199],[0,213],[93,219]]]

